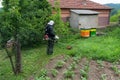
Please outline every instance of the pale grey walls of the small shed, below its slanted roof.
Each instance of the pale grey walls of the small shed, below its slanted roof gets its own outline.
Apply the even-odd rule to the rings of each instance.
[[[81,25],[79,25],[81,24]],[[98,15],[78,15],[71,12],[70,26],[72,28],[99,28]]]

